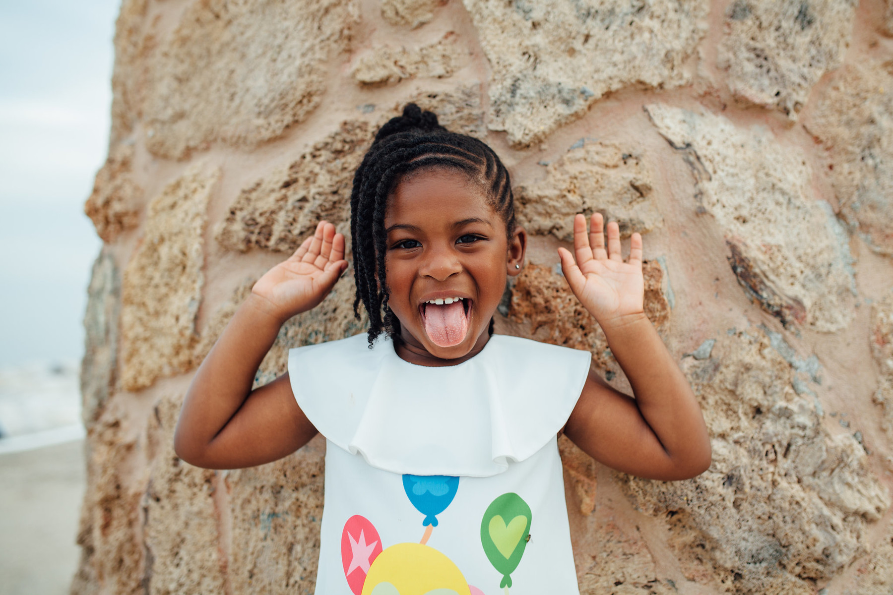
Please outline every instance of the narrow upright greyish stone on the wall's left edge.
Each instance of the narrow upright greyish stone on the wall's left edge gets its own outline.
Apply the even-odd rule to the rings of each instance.
[[[81,418],[88,429],[114,391],[118,368],[118,318],[121,278],[108,249],[99,252],[87,288],[84,358],[80,362]]]

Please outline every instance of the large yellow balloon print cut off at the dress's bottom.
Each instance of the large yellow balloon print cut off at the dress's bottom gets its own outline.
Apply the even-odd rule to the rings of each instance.
[[[362,595],[373,591],[375,595],[425,595],[436,590],[472,595],[462,571],[438,550],[421,543],[397,543],[372,562]]]

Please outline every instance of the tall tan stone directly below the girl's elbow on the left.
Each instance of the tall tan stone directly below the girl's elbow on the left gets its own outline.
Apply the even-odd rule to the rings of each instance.
[[[151,460],[143,502],[146,593],[222,593],[225,562],[213,501],[216,474],[192,467],[173,451],[181,403],[182,398],[163,396],[146,428]]]

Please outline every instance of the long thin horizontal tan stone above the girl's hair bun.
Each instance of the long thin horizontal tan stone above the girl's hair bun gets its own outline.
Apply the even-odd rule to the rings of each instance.
[[[443,79],[468,62],[468,50],[457,43],[450,31],[430,45],[407,48],[379,45],[361,56],[352,70],[354,79],[363,85],[396,83],[413,77]]]

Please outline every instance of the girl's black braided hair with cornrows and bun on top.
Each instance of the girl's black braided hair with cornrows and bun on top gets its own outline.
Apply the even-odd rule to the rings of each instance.
[[[480,185],[488,203],[514,232],[514,203],[508,170],[488,145],[477,138],[450,132],[438,117],[409,103],[402,116],[388,120],[375,135],[369,152],[356,170],[350,195],[350,233],[353,238],[356,299],[369,313],[369,345],[382,332],[399,339],[400,321],[388,308],[385,254],[385,210],[388,196],[406,175],[422,169],[452,169]],[[383,316],[382,316],[383,313]],[[490,320],[490,333],[493,321]]]

